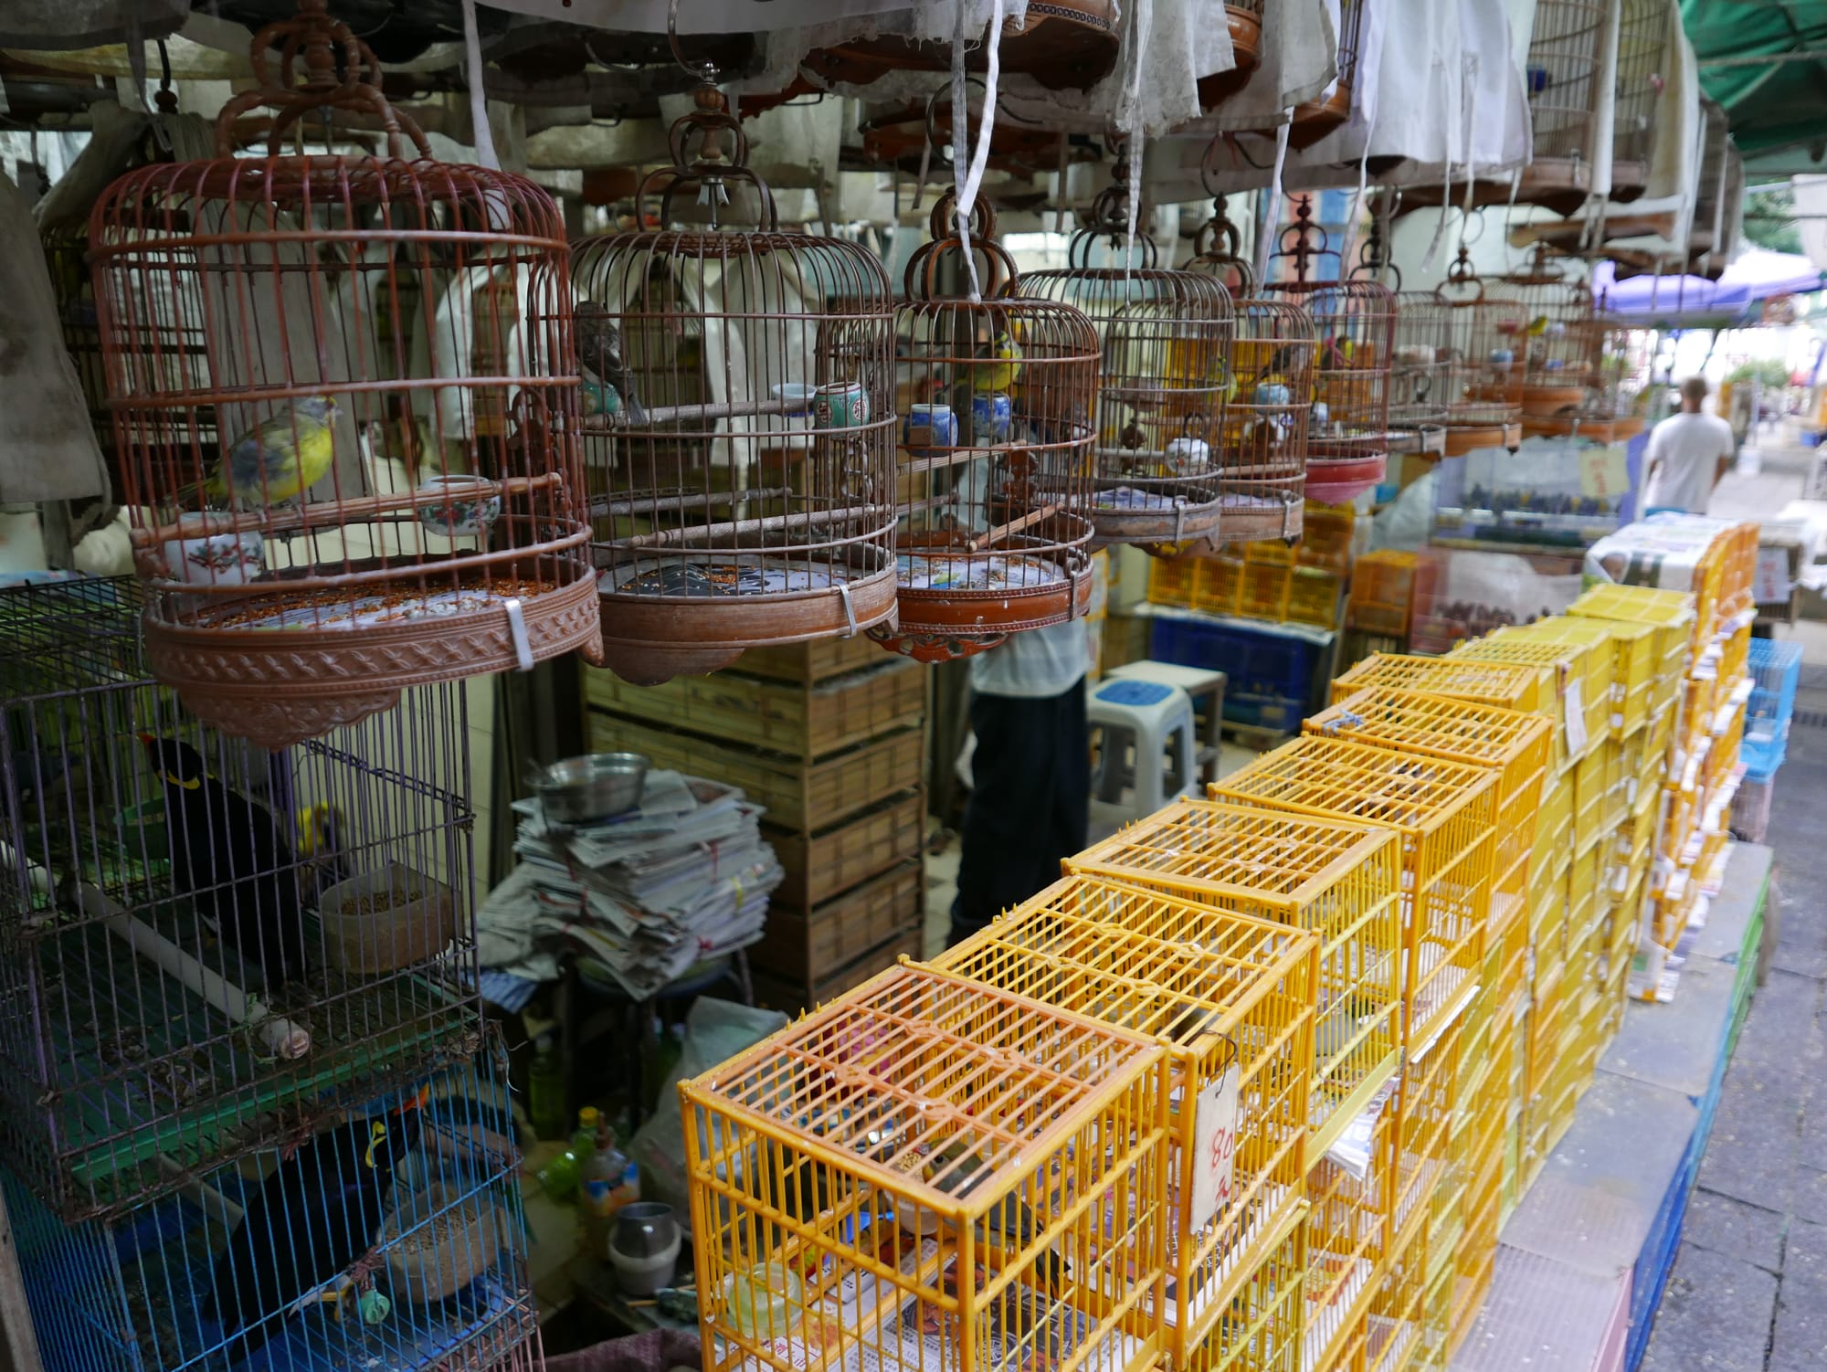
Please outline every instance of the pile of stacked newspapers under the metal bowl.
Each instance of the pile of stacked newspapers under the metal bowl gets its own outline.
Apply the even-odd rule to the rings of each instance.
[[[638,809],[596,824],[548,824],[537,800],[513,809],[521,866],[477,915],[484,968],[548,981],[577,954],[645,997],[762,937],[784,873],[736,787],[652,771]]]

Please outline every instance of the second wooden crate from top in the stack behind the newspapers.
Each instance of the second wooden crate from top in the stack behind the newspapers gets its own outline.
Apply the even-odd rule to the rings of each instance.
[[[621,718],[793,758],[822,758],[904,729],[924,712],[926,674],[904,658],[879,656],[875,667],[818,683],[716,672],[636,687],[614,672],[585,669],[585,698]]]

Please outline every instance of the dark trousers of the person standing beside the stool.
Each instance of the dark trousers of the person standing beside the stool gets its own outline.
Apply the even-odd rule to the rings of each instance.
[[[1091,806],[1083,680],[1058,696],[972,696],[970,727],[952,943],[1056,882],[1060,859],[1085,846]]]

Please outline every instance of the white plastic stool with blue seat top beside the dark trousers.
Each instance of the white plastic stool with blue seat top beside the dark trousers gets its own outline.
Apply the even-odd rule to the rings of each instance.
[[[1199,795],[1193,700],[1162,681],[1102,681],[1085,702],[1094,740],[1091,839],[1107,839],[1169,800]]]

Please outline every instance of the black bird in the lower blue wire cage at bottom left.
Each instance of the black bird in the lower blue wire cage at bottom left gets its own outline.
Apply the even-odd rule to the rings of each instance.
[[[285,1325],[311,1290],[347,1272],[387,1219],[393,1175],[418,1147],[429,1091],[380,1116],[316,1135],[281,1158],[216,1259],[203,1315],[221,1323],[234,1361]]]

